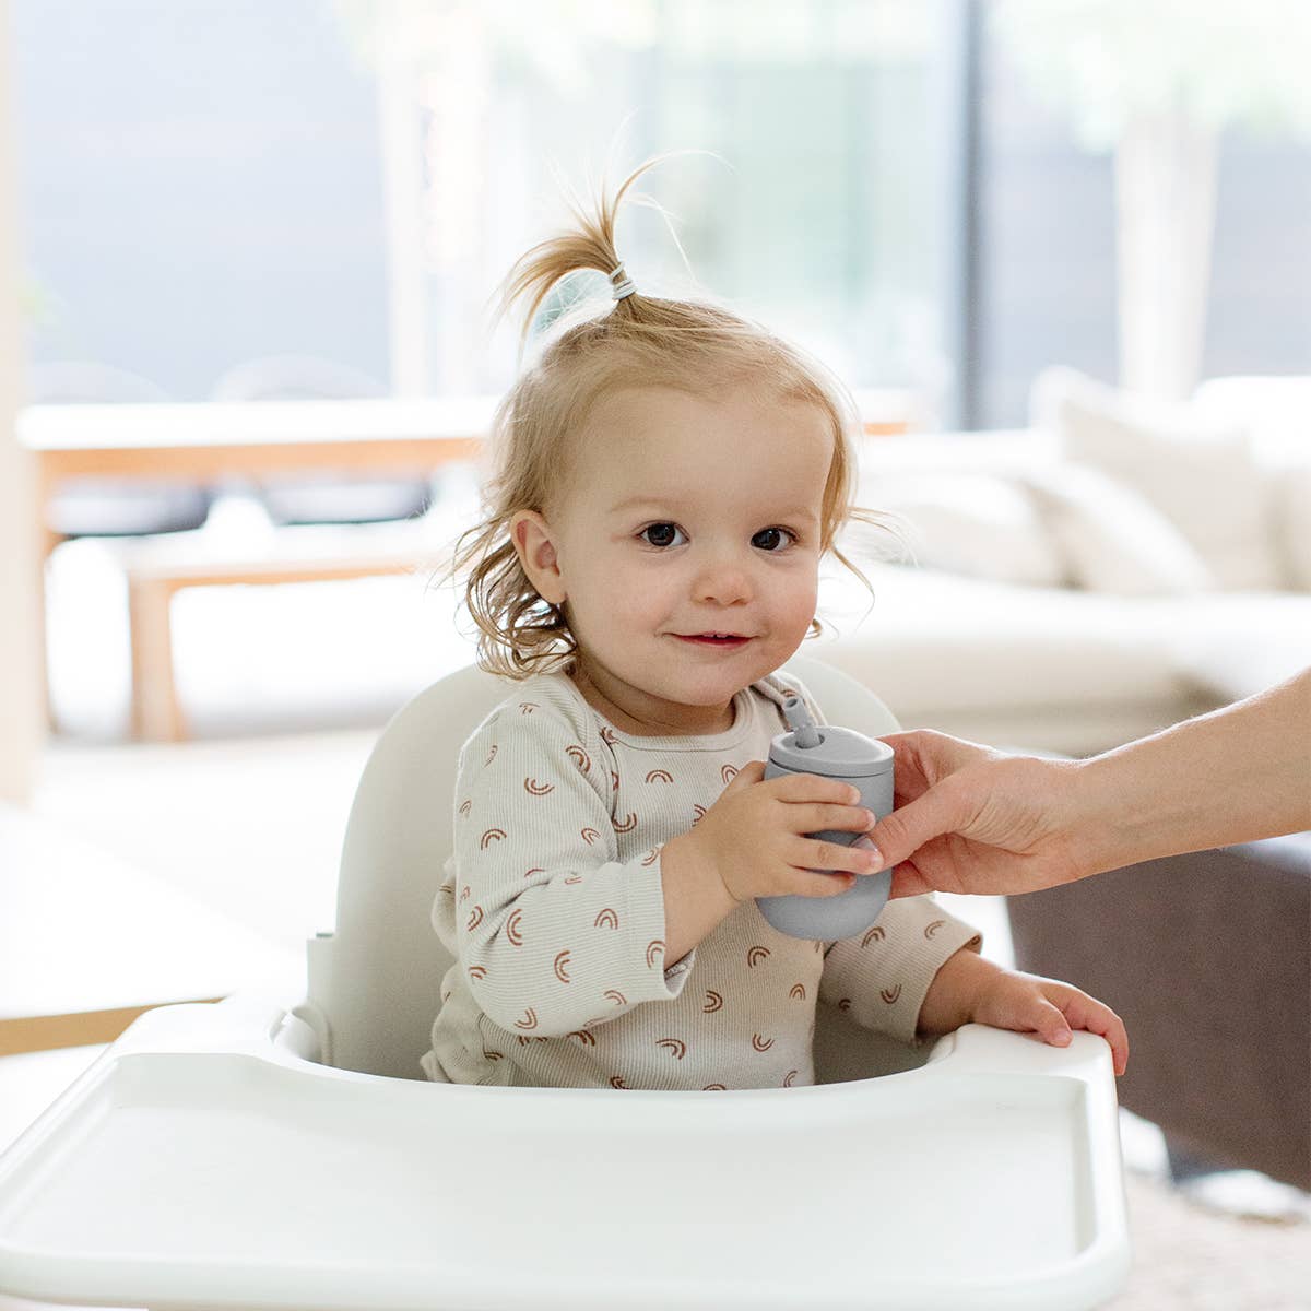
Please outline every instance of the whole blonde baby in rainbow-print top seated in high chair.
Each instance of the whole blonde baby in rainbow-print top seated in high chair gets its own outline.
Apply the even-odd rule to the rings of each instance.
[[[649,166],[649,165],[645,165]],[[645,168],[644,166],[644,168]],[[978,954],[928,897],[863,936],[802,941],[754,898],[831,897],[877,853],[848,784],[763,780],[818,632],[819,562],[850,566],[855,423],[840,387],[767,330],[644,296],[615,214],[644,169],[507,282],[527,324],[561,278],[610,275],[503,400],[486,518],[455,570],[480,663],[520,680],[460,753],[455,851],[433,920],[456,964],[430,1079],[728,1089],[814,1082],[815,1006],[907,1044],[966,1021],[1067,1044],[1100,1002]],[[527,332],[527,328],[526,328]]]

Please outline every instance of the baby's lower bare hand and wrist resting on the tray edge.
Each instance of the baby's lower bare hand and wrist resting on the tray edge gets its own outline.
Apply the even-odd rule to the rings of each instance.
[[[962,1024],[1037,1033],[1063,1047],[1071,1029],[1100,1033],[1110,1045],[1116,1074],[1129,1062],[1124,1021],[1087,992],[1055,979],[1003,969],[973,952],[957,952],[933,977],[919,1012],[922,1036],[950,1033]]]

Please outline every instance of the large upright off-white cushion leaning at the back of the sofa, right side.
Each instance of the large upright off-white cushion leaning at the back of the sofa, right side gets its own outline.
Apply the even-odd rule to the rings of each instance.
[[[1103,469],[1171,519],[1221,587],[1281,585],[1268,482],[1245,429],[1217,425],[1194,405],[1130,397],[1070,368],[1041,374],[1030,408],[1065,459]]]

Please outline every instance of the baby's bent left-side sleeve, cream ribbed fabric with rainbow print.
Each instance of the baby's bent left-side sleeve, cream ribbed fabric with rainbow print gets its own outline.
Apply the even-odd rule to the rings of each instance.
[[[682,991],[665,969],[658,852],[623,864],[600,753],[549,705],[510,705],[465,743],[452,903],[438,907],[498,1025],[558,1037]],[[604,791],[602,791],[604,789]]]

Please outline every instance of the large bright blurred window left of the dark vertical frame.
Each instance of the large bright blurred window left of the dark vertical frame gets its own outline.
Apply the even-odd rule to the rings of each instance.
[[[704,290],[856,387],[945,374],[939,25],[919,0],[14,0],[33,357],[176,400],[311,355],[497,391],[510,262],[578,184],[649,190]],[[629,271],[686,290],[662,220]]]

